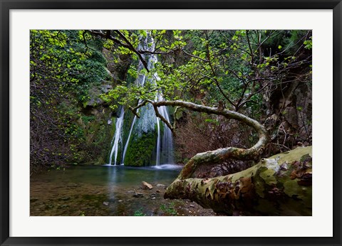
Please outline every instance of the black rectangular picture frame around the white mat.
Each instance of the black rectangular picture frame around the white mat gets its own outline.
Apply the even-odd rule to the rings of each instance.
[[[1,245],[341,245],[341,0],[0,0],[0,8]],[[333,237],[9,237],[11,9],[333,9]]]

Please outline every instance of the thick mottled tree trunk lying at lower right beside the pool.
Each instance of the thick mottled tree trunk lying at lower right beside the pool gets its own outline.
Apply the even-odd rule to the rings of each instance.
[[[227,215],[311,215],[311,156],[311,146],[299,147],[227,176],[179,176],[164,197],[190,199]]]

